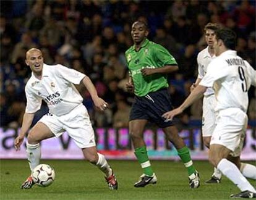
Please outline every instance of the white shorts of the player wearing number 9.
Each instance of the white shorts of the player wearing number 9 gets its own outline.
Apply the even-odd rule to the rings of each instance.
[[[247,114],[241,109],[221,110],[216,117],[216,128],[210,144],[221,144],[232,151],[231,156],[240,156],[247,122]]]

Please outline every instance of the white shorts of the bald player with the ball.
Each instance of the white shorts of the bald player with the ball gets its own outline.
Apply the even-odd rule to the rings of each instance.
[[[39,122],[44,123],[56,137],[67,131],[79,148],[90,148],[95,146],[94,131],[90,117],[85,106],[80,104],[69,114],[56,116],[44,115]]]

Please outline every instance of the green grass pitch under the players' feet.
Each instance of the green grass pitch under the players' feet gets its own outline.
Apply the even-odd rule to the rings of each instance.
[[[83,160],[41,160],[41,163],[54,168],[53,185],[20,190],[20,184],[30,173],[27,161],[1,160],[0,199],[229,199],[231,193],[239,192],[226,177],[220,185],[205,184],[212,173],[207,161],[194,162],[200,172],[201,186],[191,189],[187,170],[181,162],[151,161],[158,183],[134,188],[134,182],[142,173],[137,161],[110,160],[119,182],[117,191],[110,191],[103,174]],[[255,181],[250,182],[255,186]]]

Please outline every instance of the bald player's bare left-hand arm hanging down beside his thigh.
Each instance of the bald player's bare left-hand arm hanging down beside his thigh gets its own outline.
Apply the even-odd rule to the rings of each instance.
[[[15,138],[14,141],[14,147],[16,151],[20,150],[20,145],[23,143],[25,135],[33,122],[34,116],[35,113],[25,113],[23,115],[23,122],[22,127],[20,129],[20,135],[17,136],[17,138]]]

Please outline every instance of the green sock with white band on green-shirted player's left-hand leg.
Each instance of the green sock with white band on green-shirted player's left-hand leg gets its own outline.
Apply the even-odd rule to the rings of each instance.
[[[137,160],[139,161],[145,175],[152,176],[153,170],[150,165],[150,160],[148,159],[148,151],[146,146],[142,146],[141,148],[136,148],[134,151]]]

